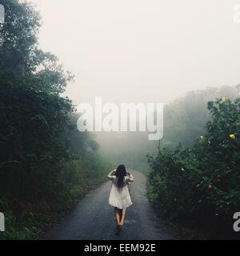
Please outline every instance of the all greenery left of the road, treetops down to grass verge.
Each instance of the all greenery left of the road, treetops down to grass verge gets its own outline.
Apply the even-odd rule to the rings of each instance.
[[[110,164],[98,144],[76,129],[74,108],[61,96],[73,76],[38,49],[38,13],[29,2],[2,0],[0,26],[0,212],[3,239],[39,231],[102,182]]]

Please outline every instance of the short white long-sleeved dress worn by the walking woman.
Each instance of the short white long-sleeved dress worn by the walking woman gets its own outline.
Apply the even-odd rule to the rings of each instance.
[[[128,183],[134,181],[133,175],[125,176],[125,184],[122,187],[122,190],[118,190],[118,178],[113,174],[113,172],[114,170],[107,175],[107,177],[112,181],[109,204],[110,206],[117,207],[118,209],[126,209],[133,204],[128,190]]]

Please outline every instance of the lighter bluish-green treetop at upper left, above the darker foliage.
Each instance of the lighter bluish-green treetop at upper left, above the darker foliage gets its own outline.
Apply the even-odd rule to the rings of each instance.
[[[6,18],[0,26],[0,85],[62,93],[73,76],[64,72],[56,56],[38,48],[39,14],[29,2],[1,3]]]

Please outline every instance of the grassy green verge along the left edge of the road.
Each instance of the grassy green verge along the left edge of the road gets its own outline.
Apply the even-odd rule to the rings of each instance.
[[[0,233],[0,240],[30,240],[44,235],[98,184],[106,181],[106,174],[112,169],[98,154],[91,154],[84,160],[66,162],[54,183],[53,194],[36,202],[0,201],[6,218],[6,232]],[[43,188],[44,190],[44,188]],[[21,208],[21,210],[14,210]]]

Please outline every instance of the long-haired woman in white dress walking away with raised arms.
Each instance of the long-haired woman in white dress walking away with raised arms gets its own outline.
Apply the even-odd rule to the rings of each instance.
[[[134,178],[132,174],[126,172],[126,167],[123,165],[118,166],[117,170],[112,170],[107,177],[112,181],[109,204],[114,206],[117,229],[120,232],[126,208],[133,204],[128,190],[128,183],[133,182]]]

